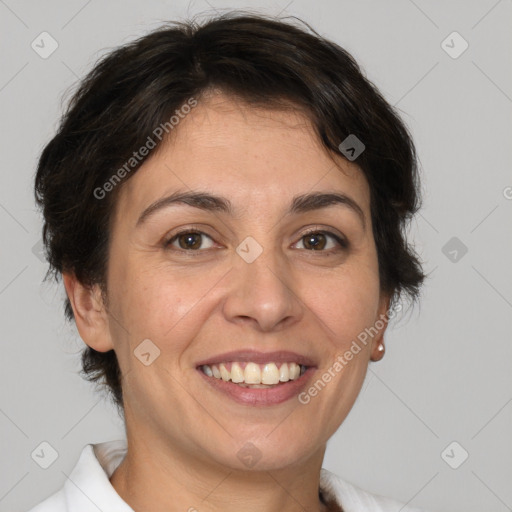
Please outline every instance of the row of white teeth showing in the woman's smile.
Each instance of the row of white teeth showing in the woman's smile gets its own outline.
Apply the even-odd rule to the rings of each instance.
[[[245,364],[245,368],[243,365]],[[228,368],[230,368],[228,370]],[[281,363],[280,368],[276,363],[219,363],[201,366],[208,377],[231,381],[244,387],[275,386],[281,382],[296,380],[306,371],[306,367],[295,362]]]

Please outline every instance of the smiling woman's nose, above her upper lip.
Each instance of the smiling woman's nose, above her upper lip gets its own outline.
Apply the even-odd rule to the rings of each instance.
[[[236,255],[230,280],[223,308],[230,322],[269,332],[288,328],[304,315],[292,270],[270,249],[264,249],[252,263]]]

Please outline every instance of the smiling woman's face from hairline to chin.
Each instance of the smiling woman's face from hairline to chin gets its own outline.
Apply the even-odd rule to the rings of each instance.
[[[177,193],[218,200],[162,201]],[[367,182],[305,116],[222,95],[199,102],[123,185],[109,254],[109,309],[89,339],[117,354],[128,435],[230,468],[244,468],[247,451],[263,469],[323,454],[385,327],[367,343],[358,336],[388,301]],[[228,378],[234,362],[244,377],[259,363],[268,382],[271,363],[307,368],[262,389],[201,369],[222,362]]]

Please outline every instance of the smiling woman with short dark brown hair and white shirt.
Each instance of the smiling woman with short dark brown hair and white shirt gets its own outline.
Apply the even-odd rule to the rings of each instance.
[[[415,510],[322,469],[424,278],[413,143],[348,53],[263,16],[170,24],[86,77],[35,189],[127,440],[33,512]]]

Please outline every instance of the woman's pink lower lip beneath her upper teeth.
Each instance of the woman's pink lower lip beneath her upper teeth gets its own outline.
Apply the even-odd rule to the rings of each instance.
[[[244,388],[231,381],[208,377],[197,369],[203,379],[217,391],[225,394],[235,402],[245,405],[275,405],[297,396],[307,385],[315,368],[309,367],[297,380],[289,380],[274,388]]]

